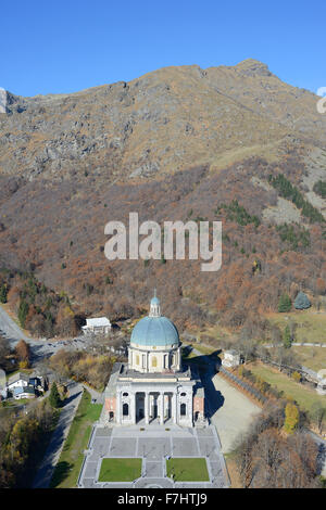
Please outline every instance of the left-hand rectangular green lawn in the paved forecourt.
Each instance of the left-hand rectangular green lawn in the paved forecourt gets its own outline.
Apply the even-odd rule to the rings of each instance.
[[[141,459],[103,459],[99,482],[131,482],[141,475]]]

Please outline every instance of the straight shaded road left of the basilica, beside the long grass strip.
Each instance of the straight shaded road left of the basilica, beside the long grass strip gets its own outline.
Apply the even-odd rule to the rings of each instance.
[[[60,458],[64,441],[68,434],[83,394],[83,386],[72,382],[68,384],[68,391],[70,397],[61,410],[57,428],[52,434],[43,461],[34,480],[33,488],[48,488],[50,485],[55,464]]]

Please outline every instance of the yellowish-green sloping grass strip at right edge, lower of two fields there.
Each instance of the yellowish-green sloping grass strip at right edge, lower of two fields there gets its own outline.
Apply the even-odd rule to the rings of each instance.
[[[273,370],[262,364],[250,365],[249,368],[253,373],[260,375],[272,386],[277,386],[277,388],[283,391],[286,396],[292,397],[294,400],[297,400],[302,410],[306,410],[309,412],[315,401],[318,401],[324,407],[326,407],[325,396],[318,395],[313,388],[297,383],[288,375]]]

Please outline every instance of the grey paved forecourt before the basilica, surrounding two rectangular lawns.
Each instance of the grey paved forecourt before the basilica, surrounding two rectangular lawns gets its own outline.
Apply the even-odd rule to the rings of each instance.
[[[221,444],[215,428],[186,429],[171,425],[113,426],[95,425],[89,448],[79,475],[79,486],[100,487],[228,487]],[[166,457],[205,457],[209,482],[173,482],[166,476]],[[103,458],[141,458],[141,476],[134,482],[98,482]]]

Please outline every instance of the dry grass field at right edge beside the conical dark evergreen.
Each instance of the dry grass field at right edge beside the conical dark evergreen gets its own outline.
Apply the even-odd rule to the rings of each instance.
[[[285,314],[267,314],[267,319],[281,330],[289,323],[297,322],[294,342],[326,342],[326,313],[314,309],[297,310]],[[288,319],[286,319],[288,317]]]

